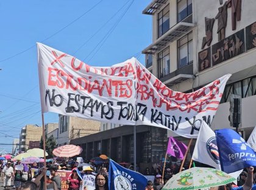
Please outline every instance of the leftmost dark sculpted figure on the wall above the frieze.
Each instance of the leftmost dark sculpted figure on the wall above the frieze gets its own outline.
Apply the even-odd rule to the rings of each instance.
[[[206,35],[206,37],[203,38],[201,49],[204,49],[205,44],[207,44],[207,46],[211,45],[212,40],[213,40],[213,24],[215,22],[214,18],[205,17],[204,19],[205,19],[205,35]]]

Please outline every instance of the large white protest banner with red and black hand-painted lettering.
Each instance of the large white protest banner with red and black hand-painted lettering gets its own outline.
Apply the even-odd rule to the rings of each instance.
[[[136,58],[111,67],[89,66],[38,43],[41,109],[101,122],[153,125],[196,138],[212,122],[227,74],[194,91],[169,89]]]

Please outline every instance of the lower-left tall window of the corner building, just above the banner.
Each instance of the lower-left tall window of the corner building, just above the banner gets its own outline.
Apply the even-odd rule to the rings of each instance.
[[[169,47],[158,54],[158,77],[165,77],[170,73]]]

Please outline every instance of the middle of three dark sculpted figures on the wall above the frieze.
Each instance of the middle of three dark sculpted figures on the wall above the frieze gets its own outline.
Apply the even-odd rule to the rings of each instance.
[[[218,30],[217,33],[219,34],[219,40],[224,40],[225,38],[225,31],[227,26],[227,4],[226,1],[222,7],[219,7],[219,12],[215,16],[215,19],[218,19]]]

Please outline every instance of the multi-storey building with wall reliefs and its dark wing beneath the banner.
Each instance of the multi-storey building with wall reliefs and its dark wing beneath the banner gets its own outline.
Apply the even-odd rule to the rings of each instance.
[[[232,74],[215,118],[206,117],[205,121],[213,130],[233,128],[228,119],[229,100],[231,94],[240,95],[239,130],[247,139],[256,125],[256,1],[153,0],[143,13],[152,16],[152,43],[142,51],[146,68],[166,86],[183,93]],[[83,147],[86,160],[104,153],[116,161],[132,163],[133,128],[108,128],[111,127],[102,125],[100,133],[71,143]],[[190,140],[161,130],[137,127],[137,162],[141,168],[162,163],[167,136],[176,136],[185,144]],[[185,166],[194,144],[195,140]]]

